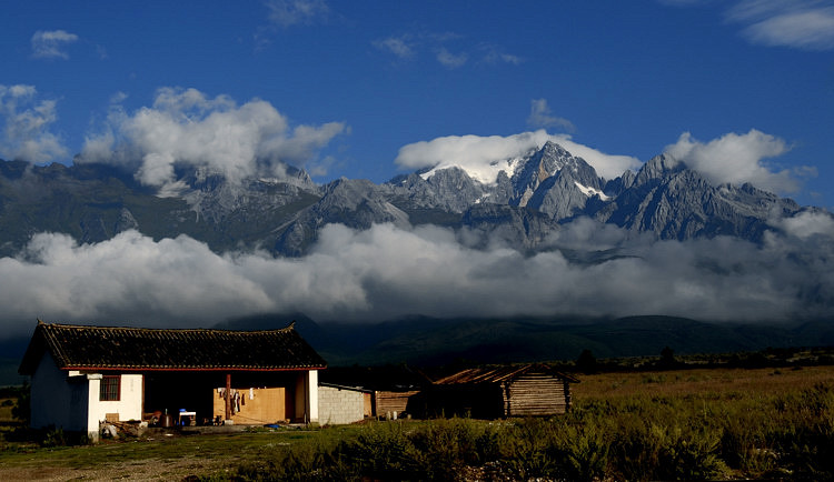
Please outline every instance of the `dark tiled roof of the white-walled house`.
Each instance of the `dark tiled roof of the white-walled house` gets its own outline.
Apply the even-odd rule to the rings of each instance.
[[[268,331],[158,330],[40,322],[20,364],[32,374],[44,351],[62,370],[322,369],[327,362],[294,325]]]

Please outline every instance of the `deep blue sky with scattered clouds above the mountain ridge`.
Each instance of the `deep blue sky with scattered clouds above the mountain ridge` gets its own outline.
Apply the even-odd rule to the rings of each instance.
[[[763,180],[802,204],[834,207],[827,0],[30,1],[3,10],[3,159],[116,152],[138,142],[142,112],[199,122],[231,112],[225,121],[245,129],[257,111],[286,125],[258,131],[280,149],[255,151],[279,152],[317,182],[388,180],[414,165],[400,149],[423,141],[545,129],[639,161],[667,149],[693,162],[712,157],[716,181]]]

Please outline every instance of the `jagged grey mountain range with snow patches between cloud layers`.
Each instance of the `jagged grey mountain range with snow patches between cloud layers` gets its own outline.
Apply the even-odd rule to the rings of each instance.
[[[287,167],[281,178],[242,181],[183,170],[176,187],[161,197],[111,167],[0,162],[0,254],[18,252],[40,231],[96,242],[137,229],[156,239],[185,233],[217,251],[301,255],[329,223],[438,224],[466,232],[461,239],[471,245],[499,239],[535,251],[578,217],[658,239],[758,241],[775,229],[774,218],[804,209],[749,184],[713,185],[668,154],[605,180],[553,142],[515,158],[444,163],[383,184],[340,179],[317,185],[304,170]]]

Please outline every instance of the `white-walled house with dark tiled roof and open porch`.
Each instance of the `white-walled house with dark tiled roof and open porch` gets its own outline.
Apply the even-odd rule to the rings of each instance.
[[[31,376],[32,428],[97,439],[106,420],[318,422],[326,365],[294,324],[151,330],[38,320],[19,371]]]

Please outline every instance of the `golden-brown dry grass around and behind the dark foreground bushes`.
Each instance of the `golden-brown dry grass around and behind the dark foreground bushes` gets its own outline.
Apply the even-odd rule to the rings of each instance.
[[[805,466],[804,473],[813,476],[816,472],[807,466],[816,463],[820,456],[827,456],[827,452],[823,453],[815,449],[817,445],[814,445],[814,441],[817,439],[808,438],[807,429],[817,426],[820,421],[825,422],[826,416],[834,413],[828,402],[821,405],[822,409],[814,405],[820,401],[830,401],[830,392],[818,392],[814,396],[805,396],[803,393],[811,393],[821,384],[834,384],[834,366],[808,366],[798,370],[696,369],[604,373],[579,378],[582,382],[573,385],[576,410],[567,416],[553,421],[516,421],[502,424],[477,421],[445,424],[413,422],[414,426],[409,425],[411,428],[408,432],[411,435],[408,436],[414,436],[414,433],[421,436],[417,441],[421,441],[428,448],[421,458],[430,461],[434,456],[443,461],[445,452],[434,449],[441,446],[451,453],[451,442],[458,440],[453,438],[449,442],[443,439],[444,436],[456,434],[459,440],[468,440],[464,435],[480,432],[490,434],[496,438],[493,441],[496,453],[490,456],[495,455],[496,460],[502,460],[502,466],[508,470],[515,468],[513,464],[518,465],[517,473],[535,473],[538,468],[536,464],[543,463],[539,455],[549,452],[539,453],[540,451],[534,449],[540,449],[537,444],[540,445],[543,440],[549,440],[548,436],[554,443],[565,442],[560,439],[564,439],[565,430],[576,432],[575,436],[569,438],[569,442],[579,441],[587,446],[568,444],[563,449],[576,452],[576,456],[579,458],[577,460],[587,462],[588,466],[596,468],[594,470],[597,472],[606,466],[624,470],[623,460],[632,456],[628,450],[638,455],[645,454],[648,442],[656,442],[658,446],[691,449],[693,441],[697,442],[697,438],[703,439],[705,446],[702,450],[703,454],[697,453],[698,455],[722,458],[727,463],[721,471],[725,478],[790,479],[786,476],[787,472],[777,472],[780,468],[762,456],[777,452],[781,454],[780,464],[784,462],[798,469]],[[805,420],[808,418],[813,420]],[[388,430],[388,425],[369,424],[319,431],[133,439],[91,446],[53,449],[7,443],[0,452],[0,480],[182,480],[188,475],[206,480],[228,480],[238,472],[241,464],[259,468],[271,461],[280,465],[288,453],[294,454],[299,464],[307,459],[318,460],[317,453],[320,452],[332,455],[336,453],[334,448],[341,441],[354,441],[355,448],[368,448],[370,452],[367,458],[375,461],[381,448],[399,446],[407,435],[403,432],[399,436],[394,436],[397,434],[389,432],[391,431]],[[535,436],[523,436],[526,432]],[[823,433],[824,439],[818,440],[827,443],[830,436],[826,433]],[[380,438],[379,441],[374,439],[377,435]],[[820,436],[813,433],[812,435]],[[436,441],[431,436],[443,440]],[[676,438],[685,443],[676,442]],[[793,453],[795,451],[791,443],[794,440],[803,444],[808,441],[814,443],[807,443],[808,450]],[[414,443],[414,440],[409,443]],[[801,444],[800,448],[803,446]],[[518,454],[513,455],[513,450]],[[661,452],[655,455],[657,460],[644,461],[645,468],[634,469],[635,473],[653,473],[651,470],[656,470],[656,465],[661,463],[658,460],[662,461],[662,456],[665,456]],[[810,462],[802,465],[805,460]],[[719,462],[724,463],[723,461]],[[715,466],[721,466],[721,463],[716,465],[709,460],[706,462],[708,463],[702,465],[707,466],[712,463],[714,471]],[[826,472],[818,474],[834,474],[828,471],[827,465],[823,469]]]

